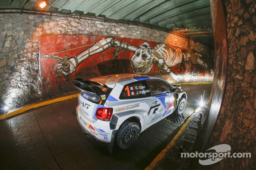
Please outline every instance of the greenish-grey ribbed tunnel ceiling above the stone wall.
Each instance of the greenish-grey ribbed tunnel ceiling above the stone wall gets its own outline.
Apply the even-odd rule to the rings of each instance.
[[[94,15],[176,30],[213,46],[210,0],[0,0],[1,8]],[[3,10],[3,9],[1,9]]]

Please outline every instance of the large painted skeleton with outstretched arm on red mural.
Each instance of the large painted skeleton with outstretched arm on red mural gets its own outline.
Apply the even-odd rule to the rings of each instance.
[[[62,75],[65,77],[74,73],[78,65],[90,56],[104,52],[112,47],[115,48],[113,52],[113,63],[117,60],[119,50],[131,51],[134,52],[131,57],[131,68],[134,72],[148,73],[152,69],[153,63],[155,63],[159,71],[167,72],[177,82],[183,79],[183,76],[181,74],[176,75],[169,67],[177,65],[183,60],[190,60],[193,64],[199,64],[207,68],[207,64],[204,63],[199,54],[195,52],[173,48],[163,43],[159,43],[154,48],[151,48],[147,42],[143,42],[140,47],[137,47],[127,42],[117,40],[114,37],[100,39],[90,48],[68,58],[68,62],[64,62],[65,59],[64,61],[60,61],[59,58],[61,57],[56,55],[45,54],[44,57],[55,58],[60,61],[58,64],[58,74],[55,76],[59,78]]]

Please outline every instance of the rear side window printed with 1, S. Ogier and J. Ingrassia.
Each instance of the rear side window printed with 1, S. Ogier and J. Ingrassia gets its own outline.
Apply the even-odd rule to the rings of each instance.
[[[124,85],[120,99],[134,99],[150,96],[150,90],[145,80],[132,82]]]

